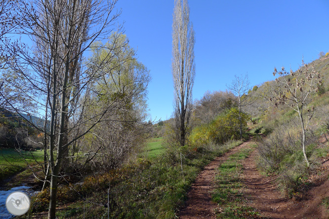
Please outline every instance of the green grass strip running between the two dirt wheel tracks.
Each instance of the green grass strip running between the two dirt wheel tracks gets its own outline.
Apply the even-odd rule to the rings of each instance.
[[[245,205],[243,199],[243,173],[242,160],[247,158],[251,149],[242,149],[231,155],[222,163],[216,175],[216,189],[212,194],[212,200],[218,203],[216,209],[218,219],[260,219],[260,214]]]

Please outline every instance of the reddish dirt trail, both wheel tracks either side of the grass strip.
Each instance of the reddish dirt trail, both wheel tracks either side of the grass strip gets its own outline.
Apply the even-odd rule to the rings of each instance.
[[[217,157],[197,177],[187,194],[185,206],[179,211],[179,219],[215,219],[216,203],[211,201],[211,191],[214,189],[214,176],[217,167],[227,158],[247,148],[251,142],[237,146],[221,157]],[[329,160],[323,160],[322,168],[326,170],[321,176],[311,177],[312,186],[303,194],[302,200],[288,199],[276,188],[276,178],[260,175],[255,160],[257,151],[243,161],[245,184],[244,197],[247,206],[255,208],[268,219],[328,219],[329,211],[322,205],[322,200],[329,197]]]

